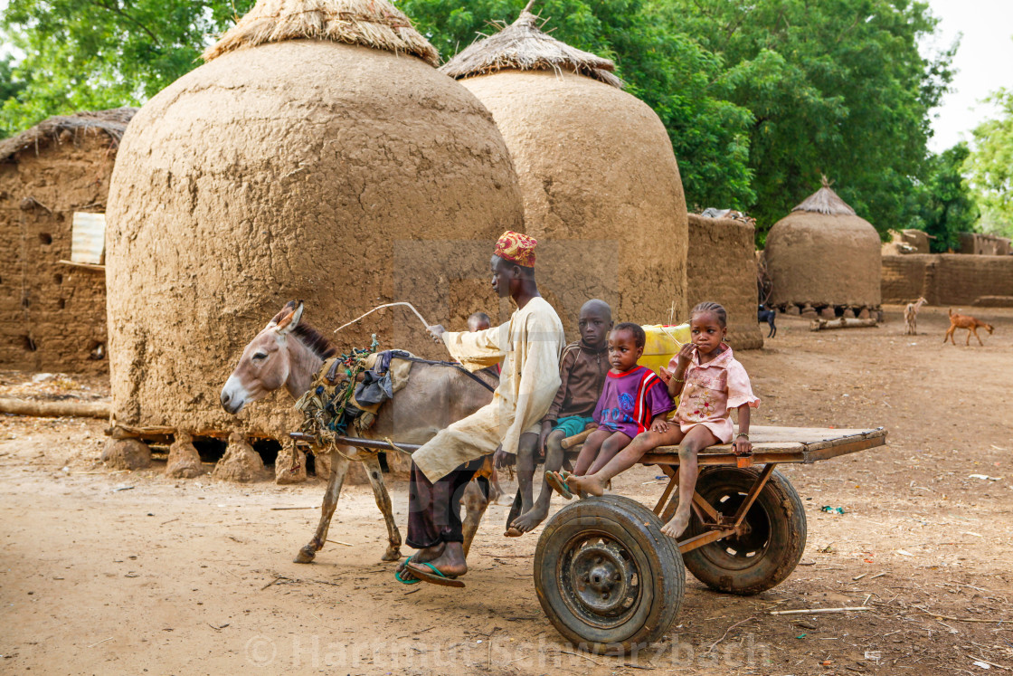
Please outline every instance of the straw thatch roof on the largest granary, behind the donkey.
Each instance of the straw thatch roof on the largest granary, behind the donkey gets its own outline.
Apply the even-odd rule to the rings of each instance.
[[[440,65],[436,48],[387,0],[259,0],[203,56],[211,61],[227,52],[288,40],[362,45]]]

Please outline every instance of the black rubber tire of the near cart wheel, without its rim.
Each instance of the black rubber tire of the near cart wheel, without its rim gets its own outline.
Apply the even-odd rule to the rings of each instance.
[[[598,627],[574,614],[563,600],[557,571],[563,548],[580,533],[597,531],[621,543],[638,571],[636,613],[622,625]],[[686,569],[675,539],[661,533],[657,516],[622,496],[574,501],[552,517],[535,549],[535,592],[542,610],[570,643],[595,653],[627,654],[661,639],[683,603]]]

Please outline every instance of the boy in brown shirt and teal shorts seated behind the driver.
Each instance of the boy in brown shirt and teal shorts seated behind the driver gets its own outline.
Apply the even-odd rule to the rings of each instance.
[[[542,419],[539,448],[545,451],[545,469],[559,471],[565,451],[560,445],[566,437],[595,427],[592,414],[609,372],[609,331],[612,329],[612,308],[602,300],[589,300],[577,317],[580,340],[563,349],[559,359],[562,384],[549,412]],[[506,535],[517,537],[534,529],[549,514],[552,489],[542,475],[542,490],[534,502],[534,453],[521,451],[517,456],[518,480],[521,484],[521,515],[510,523]]]

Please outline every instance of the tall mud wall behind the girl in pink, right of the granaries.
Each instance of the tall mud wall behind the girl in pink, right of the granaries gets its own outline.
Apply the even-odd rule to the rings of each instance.
[[[733,350],[763,347],[757,323],[756,229],[746,221],[689,215],[687,300],[716,301],[728,311]]]

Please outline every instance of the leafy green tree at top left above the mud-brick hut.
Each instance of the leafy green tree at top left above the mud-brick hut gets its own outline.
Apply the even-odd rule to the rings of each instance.
[[[25,56],[0,128],[79,109],[141,103],[199,65],[210,35],[253,0],[10,0],[9,42]]]

